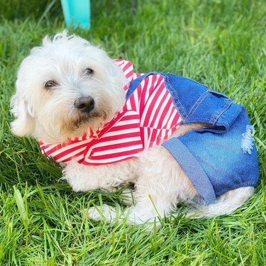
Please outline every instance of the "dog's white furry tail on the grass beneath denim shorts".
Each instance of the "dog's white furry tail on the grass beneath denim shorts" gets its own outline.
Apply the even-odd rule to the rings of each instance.
[[[247,201],[254,193],[254,187],[240,187],[226,192],[220,196],[213,204],[204,204],[196,206],[187,213],[189,218],[202,218],[210,216],[221,216],[231,214]]]

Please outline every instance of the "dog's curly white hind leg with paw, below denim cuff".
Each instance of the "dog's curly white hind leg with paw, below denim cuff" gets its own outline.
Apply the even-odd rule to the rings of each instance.
[[[190,182],[174,157],[164,148],[157,147],[140,155],[140,175],[135,182],[135,206],[125,211],[110,206],[92,207],[89,217],[112,222],[127,218],[128,223],[159,221],[168,216],[179,200],[191,202],[197,196]]]

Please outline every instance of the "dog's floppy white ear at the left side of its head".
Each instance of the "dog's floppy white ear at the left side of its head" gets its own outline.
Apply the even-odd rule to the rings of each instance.
[[[15,116],[15,120],[11,122],[11,131],[21,137],[31,135],[35,128],[35,119],[28,103],[18,95],[18,92],[11,98],[11,113]]]

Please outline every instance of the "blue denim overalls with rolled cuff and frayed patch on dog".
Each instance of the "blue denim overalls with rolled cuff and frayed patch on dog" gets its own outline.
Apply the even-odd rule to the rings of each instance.
[[[244,107],[204,84],[153,72],[131,82],[127,99],[150,74],[164,77],[182,124],[210,125],[162,144],[182,166],[206,204],[232,189],[255,186],[259,176],[257,150]]]

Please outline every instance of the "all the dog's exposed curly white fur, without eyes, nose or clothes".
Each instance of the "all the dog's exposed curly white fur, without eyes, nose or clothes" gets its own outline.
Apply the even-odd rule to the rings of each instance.
[[[93,76],[86,74],[87,68]],[[45,82],[55,82],[48,89]],[[16,135],[32,135],[49,143],[61,143],[79,137],[89,128],[100,128],[113,118],[125,101],[123,86],[126,78],[106,52],[86,40],[66,32],[43,46],[33,48],[18,71],[16,94],[11,99],[11,111],[16,119],[11,123]],[[80,96],[92,96],[95,108],[83,117],[74,101]],[[174,136],[183,135],[204,125],[179,127]],[[165,167],[167,165],[167,167]],[[116,216],[128,217],[128,222],[143,223],[158,216],[167,216],[182,201],[194,204],[194,216],[228,214],[241,206],[252,194],[253,187],[228,192],[214,204],[199,204],[199,195],[176,160],[163,147],[145,150],[138,159],[113,165],[84,166],[74,160],[63,170],[74,191],[112,190],[123,184],[135,183],[135,204],[126,211],[109,206],[92,207],[89,217],[114,221]]]

